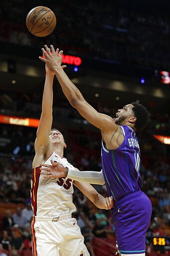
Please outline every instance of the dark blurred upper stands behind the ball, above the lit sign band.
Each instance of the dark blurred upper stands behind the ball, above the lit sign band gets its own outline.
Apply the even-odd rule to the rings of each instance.
[[[142,3],[143,2],[143,3]],[[154,7],[153,7],[154,4]],[[54,32],[45,38],[30,34],[26,15],[35,0],[2,0],[0,40],[36,47],[54,44],[70,54],[140,66],[170,67],[169,2],[48,1],[57,17]],[[46,5],[46,3],[44,4]],[[74,11],[73,11],[74,10]],[[106,50],[107,49],[107,50]]]

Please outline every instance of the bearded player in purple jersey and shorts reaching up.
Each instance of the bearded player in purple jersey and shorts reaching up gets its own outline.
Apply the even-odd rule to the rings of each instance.
[[[70,104],[102,133],[102,171],[97,174],[89,171],[76,173],[61,164],[46,165],[47,175],[59,176],[59,170],[65,176],[81,175],[77,179],[90,182],[104,176],[108,195],[114,197],[112,218],[115,224],[119,254],[129,256],[145,255],[146,231],[149,227],[152,205],[148,196],[141,191],[140,147],[136,131],[142,130],[148,122],[147,109],[136,102],[125,105],[116,113],[116,118],[96,111],[71,82],[63,68],[62,51],[55,51],[51,45],[42,48],[44,58],[62,87]],[[51,53],[50,53],[51,52]],[[62,168],[63,167],[63,168]],[[45,168],[44,168],[45,169]],[[94,181],[95,183],[96,181]],[[92,182],[91,182],[92,183]]]

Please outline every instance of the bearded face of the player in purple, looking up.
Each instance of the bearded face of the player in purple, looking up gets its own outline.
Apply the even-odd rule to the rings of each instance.
[[[121,125],[128,117],[134,116],[134,111],[132,110],[133,107],[134,105],[127,104],[123,108],[118,109],[116,118],[114,118],[115,123]]]

